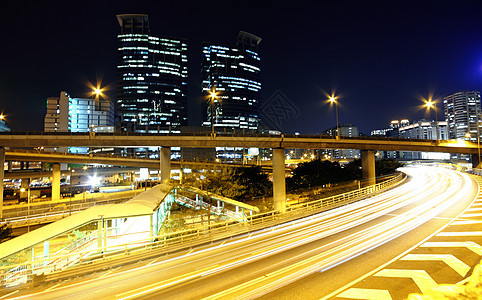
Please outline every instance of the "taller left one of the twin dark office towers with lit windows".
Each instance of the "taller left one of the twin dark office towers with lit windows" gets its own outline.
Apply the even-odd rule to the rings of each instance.
[[[150,34],[143,14],[117,15],[121,131],[180,132],[187,125],[187,44]]]

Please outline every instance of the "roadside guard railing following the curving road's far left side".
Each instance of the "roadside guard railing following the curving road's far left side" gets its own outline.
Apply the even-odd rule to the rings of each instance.
[[[137,253],[143,253],[144,257],[146,255],[156,256],[203,243],[211,243],[215,240],[232,238],[239,234],[249,233],[360,200],[363,197],[394,187],[402,183],[405,178],[406,176],[403,173],[399,173],[391,179],[372,186],[341,195],[292,205],[287,208],[284,214],[278,211],[269,211],[148,239],[136,240],[126,244],[95,247],[95,249],[87,247],[89,249],[75,251],[74,253],[60,251],[57,255],[49,255],[48,258],[40,255],[33,258],[30,262],[0,267],[0,286],[9,287],[26,282],[32,283],[38,280],[38,276],[42,276],[42,280],[56,280],[72,274],[87,274],[92,272],[94,268],[98,268],[98,264],[120,265]],[[115,234],[112,235],[112,238],[114,237]],[[96,237],[89,239],[89,244],[96,244]],[[149,252],[146,253],[146,250]],[[62,263],[53,266],[53,261]],[[72,265],[73,263],[75,265]],[[70,266],[70,268],[62,270],[62,266]]]

